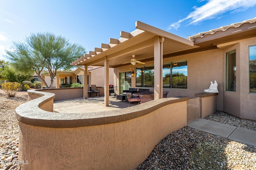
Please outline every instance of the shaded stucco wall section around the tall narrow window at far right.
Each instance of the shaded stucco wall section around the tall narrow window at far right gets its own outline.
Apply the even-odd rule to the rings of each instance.
[[[218,46],[223,50],[224,63],[226,53],[236,49],[236,92],[224,90],[223,111],[244,119],[256,120],[256,94],[249,93],[248,47],[251,45],[256,45],[255,37]],[[225,82],[225,76],[223,81]]]

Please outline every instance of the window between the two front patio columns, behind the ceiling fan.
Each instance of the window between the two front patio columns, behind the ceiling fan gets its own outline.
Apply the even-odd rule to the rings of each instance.
[[[136,86],[154,87],[154,66],[136,68]]]

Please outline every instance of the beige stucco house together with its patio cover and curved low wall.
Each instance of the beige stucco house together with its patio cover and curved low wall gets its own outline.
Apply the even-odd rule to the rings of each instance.
[[[28,90],[29,101],[16,109],[19,159],[29,162],[20,169],[134,169],[164,137],[187,125],[192,100],[212,113],[256,120],[256,18],[188,39],[136,21],[136,30],[121,31],[120,37],[70,64],[84,67],[77,75],[101,67],[105,106],[111,107],[111,69],[118,94],[149,88],[154,100],[110,111],[56,113],[56,98],[88,98],[86,76],[84,88]],[[214,80],[218,93],[204,92]],[[169,98],[162,99],[163,91]]]

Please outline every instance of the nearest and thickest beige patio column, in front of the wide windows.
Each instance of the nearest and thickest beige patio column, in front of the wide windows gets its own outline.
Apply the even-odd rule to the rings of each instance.
[[[163,42],[164,37],[154,37],[154,100],[163,98]]]

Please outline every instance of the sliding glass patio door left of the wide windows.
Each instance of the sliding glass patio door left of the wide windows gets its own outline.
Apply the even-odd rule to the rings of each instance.
[[[120,72],[119,73],[119,84],[120,84],[120,94],[123,93],[123,90],[129,90],[132,86],[132,72]]]

